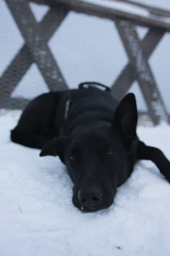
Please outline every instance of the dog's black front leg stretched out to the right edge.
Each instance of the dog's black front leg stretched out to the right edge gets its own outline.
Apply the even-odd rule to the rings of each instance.
[[[140,142],[137,149],[137,158],[138,160],[151,160],[156,164],[161,174],[170,182],[170,161],[160,149]]]

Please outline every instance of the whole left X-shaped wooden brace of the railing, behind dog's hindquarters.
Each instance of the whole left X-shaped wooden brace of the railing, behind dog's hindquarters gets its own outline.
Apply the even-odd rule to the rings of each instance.
[[[27,104],[26,99],[10,98],[10,94],[25,75],[32,63],[36,63],[50,90],[67,88],[62,73],[47,45],[49,38],[60,26],[69,9],[58,5],[52,7],[41,23],[37,23],[25,0],[6,0],[6,3],[26,41],[0,78],[0,90],[3,92],[3,104],[6,107],[20,108]],[[8,86],[4,87],[4,84]],[[2,88],[2,89],[1,89]],[[0,100],[2,100],[0,99]],[[0,106],[1,107],[1,106]]]

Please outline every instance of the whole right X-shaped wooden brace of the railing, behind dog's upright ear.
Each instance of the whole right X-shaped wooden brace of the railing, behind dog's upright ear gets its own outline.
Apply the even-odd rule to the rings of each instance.
[[[153,73],[147,63],[148,58],[166,31],[152,28],[144,40],[140,42],[135,31],[135,25],[131,21],[116,18],[115,24],[130,63],[127,64],[113,84],[112,94],[121,99],[133,81],[137,79],[153,123],[156,125],[162,119],[170,122]]]

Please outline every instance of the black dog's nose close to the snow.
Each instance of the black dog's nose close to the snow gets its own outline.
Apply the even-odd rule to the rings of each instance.
[[[95,206],[102,198],[101,189],[98,186],[91,186],[78,191],[78,199],[84,206]]]

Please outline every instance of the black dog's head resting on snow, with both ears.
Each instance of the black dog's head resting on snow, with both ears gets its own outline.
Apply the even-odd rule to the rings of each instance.
[[[78,209],[91,212],[113,203],[116,187],[132,166],[137,119],[135,96],[129,93],[118,105],[112,124],[78,129],[43,147],[40,156],[58,155],[66,164],[75,184],[72,201]]]

